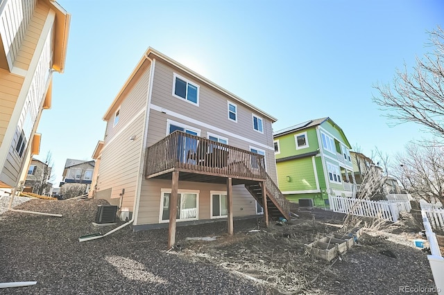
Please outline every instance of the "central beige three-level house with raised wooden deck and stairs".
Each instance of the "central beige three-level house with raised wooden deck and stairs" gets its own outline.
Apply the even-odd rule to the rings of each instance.
[[[93,154],[97,198],[135,231],[256,215],[288,218],[275,185],[275,118],[148,48],[106,111]],[[264,202],[266,201],[266,202]],[[257,203],[259,204],[257,206]]]

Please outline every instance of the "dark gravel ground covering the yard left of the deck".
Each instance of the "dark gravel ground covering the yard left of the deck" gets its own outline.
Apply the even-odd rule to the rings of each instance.
[[[34,286],[1,289],[0,293],[275,294],[221,267],[167,253],[166,229],[133,233],[127,226],[99,240],[78,242],[81,235],[114,228],[92,226],[99,204],[106,202],[32,199],[16,208],[63,217],[11,211],[0,215],[2,283],[37,281]],[[177,238],[220,234],[224,227],[178,227]]]

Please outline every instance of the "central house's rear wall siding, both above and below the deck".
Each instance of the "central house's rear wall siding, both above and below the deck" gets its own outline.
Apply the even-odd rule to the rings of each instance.
[[[177,73],[200,87],[198,106],[173,96],[173,73]],[[211,134],[228,138],[229,145],[244,150],[250,150],[250,146],[264,150],[266,154],[266,170],[277,181],[273,129],[270,120],[266,120],[263,116],[255,113],[253,109],[244,107],[240,102],[231,100],[222,93],[191,78],[186,73],[173,70],[173,68],[158,60],[156,60],[153,80],[151,105],[164,109],[166,114],[162,113],[162,111],[150,109],[147,146],[153,145],[167,135],[167,119],[169,119],[194,127],[194,129],[200,129],[200,136],[203,137],[207,137],[207,132],[210,132]],[[237,123],[228,119],[228,101],[237,105]],[[253,129],[252,113],[262,118],[264,134]],[[153,179],[142,181],[139,213],[135,221],[136,225],[159,222],[162,188],[171,188],[171,181]],[[180,181],[179,189],[200,190],[199,220],[207,220],[211,216],[210,190],[225,191],[226,186]],[[255,206],[255,199],[244,186],[233,187],[234,216],[255,215]]]

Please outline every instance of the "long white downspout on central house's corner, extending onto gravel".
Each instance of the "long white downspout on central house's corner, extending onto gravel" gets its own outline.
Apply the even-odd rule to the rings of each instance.
[[[135,193],[135,202],[133,205],[133,216],[131,217],[131,220],[126,222],[125,224],[122,224],[121,226],[118,226],[115,229],[112,229],[111,231],[108,231],[108,233],[105,233],[103,235],[85,235],[84,237],[78,238],[78,242],[86,242],[89,240],[96,240],[103,238],[107,235],[110,235],[111,233],[114,233],[115,231],[119,231],[119,229],[122,229],[123,227],[132,224],[136,220],[137,215],[137,208],[139,207],[139,201],[140,201],[140,192],[142,190],[142,179],[144,177],[144,166],[145,166],[145,156],[146,156],[146,145],[147,139],[148,139],[148,117],[149,117],[149,111],[150,111],[150,105],[151,105],[151,93],[153,93],[153,78],[154,78],[154,68],[155,68],[155,59],[151,60],[148,55],[145,54],[145,58],[151,62],[151,73],[150,73],[150,80],[149,80],[149,89],[148,89],[148,96],[146,97],[146,116],[144,119],[144,138],[142,139],[142,149],[140,150],[140,164],[139,164],[139,171],[137,173],[137,181],[136,181],[136,193]]]

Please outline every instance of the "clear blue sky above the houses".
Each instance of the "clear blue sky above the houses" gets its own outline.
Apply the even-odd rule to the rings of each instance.
[[[388,127],[372,86],[427,52],[427,30],[444,27],[442,1],[58,3],[71,13],[67,62],[37,157],[51,151],[55,186],[67,158],[91,159],[106,109],[148,46],[278,118],[275,131],[330,116],[368,155],[427,136],[413,123]]]

